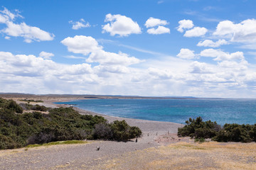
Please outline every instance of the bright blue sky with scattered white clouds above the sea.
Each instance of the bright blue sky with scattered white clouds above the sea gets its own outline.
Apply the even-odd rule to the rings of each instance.
[[[255,98],[255,8],[0,0],[0,92]]]

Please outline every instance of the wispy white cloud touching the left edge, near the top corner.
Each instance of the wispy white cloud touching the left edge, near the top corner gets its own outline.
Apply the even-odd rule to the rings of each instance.
[[[11,13],[8,9],[0,11],[0,23],[6,24],[1,33],[13,37],[23,37],[25,42],[53,40],[54,35],[40,28],[28,26],[26,23],[14,23],[16,17],[22,17],[18,13]]]

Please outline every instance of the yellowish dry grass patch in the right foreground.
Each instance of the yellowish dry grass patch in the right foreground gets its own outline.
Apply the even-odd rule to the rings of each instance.
[[[255,143],[178,142],[129,152],[95,169],[256,169]]]

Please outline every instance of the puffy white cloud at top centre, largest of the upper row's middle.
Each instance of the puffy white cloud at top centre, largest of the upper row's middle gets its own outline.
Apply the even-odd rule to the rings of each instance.
[[[132,21],[131,18],[127,16],[121,16],[119,14],[112,15],[107,14],[105,18],[105,22],[107,23],[105,26],[102,26],[102,33],[110,33],[110,35],[120,35],[128,36],[132,33],[140,34],[142,33],[141,28],[137,22]]]

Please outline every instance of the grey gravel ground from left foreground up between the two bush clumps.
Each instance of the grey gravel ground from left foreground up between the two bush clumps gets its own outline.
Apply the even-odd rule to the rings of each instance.
[[[113,118],[115,119],[115,118]],[[119,118],[117,118],[119,119]],[[127,123],[134,123],[125,119]],[[11,149],[0,151],[0,169],[93,169],[101,162],[121,157],[127,152],[158,147],[156,139],[169,132],[176,132],[178,124],[135,120],[133,125],[142,128],[138,142],[89,141],[82,145],[55,145],[49,147]],[[148,129],[147,129],[148,128]],[[166,128],[166,129],[165,129]],[[154,129],[154,130],[151,130]],[[145,131],[144,131],[145,130]],[[156,135],[157,133],[157,135]],[[100,150],[97,151],[97,147]]]

